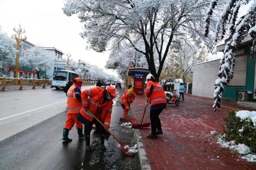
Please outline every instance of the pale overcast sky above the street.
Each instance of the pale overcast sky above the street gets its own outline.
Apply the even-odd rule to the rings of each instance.
[[[67,17],[63,7],[63,0],[0,0],[0,26],[11,36],[14,33],[12,28],[21,23],[29,42],[56,47],[65,54],[70,52],[74,60],[81,58],[104,68],[108,53],[86,50],[86,40],[79,35],[82,23],[76,15]],[[106,72],[117,75],[112,70]]]

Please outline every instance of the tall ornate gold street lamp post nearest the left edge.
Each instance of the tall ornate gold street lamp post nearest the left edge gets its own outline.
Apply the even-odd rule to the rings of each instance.
[[[19,25],[19,28],[16,29],[15,27],[12,29],[15,33],[15,35],[12,34],[12,39],[14,39],[17,43],[17,54],[16,54],[16,67],[15,67],[15,78],[18,78],[18,71],[19,71],[19,55],[20,55],[20,42],[23,40],[26,40],[26,35],[24,38],[21,34],[25,33],[25,28],[22,29],[21,25]],[[15,80],[15,84],[18,84],[18,80]]]

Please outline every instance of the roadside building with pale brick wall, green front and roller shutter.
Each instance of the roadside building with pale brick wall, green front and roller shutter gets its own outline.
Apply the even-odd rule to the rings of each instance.
[[[251,59],[251,38],[245,37],[236,51],[233,78],[224,87],[223,99],[256,101],[256,60]],[[224,51],[225,44],[217,46]],[[196,64],[193,72],[192,95],[213,98],[214,84],[219,74],[220,60]]]

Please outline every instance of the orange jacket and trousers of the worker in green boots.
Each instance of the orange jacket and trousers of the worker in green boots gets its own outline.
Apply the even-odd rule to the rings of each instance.
[[[67,121],[65,123],[65,128],[68,130],[71,130],[71,128],[74,126],[74,123],[76,123],[77,129],[83,129],[82,123],[76,118],[76,115],[79,113],[79,111],[82,108],[82,102],[76,98],[77,95],[81,95],[80,94],[81,91],[80,93],[75,92],[75,89],[78,89],[78,88],[79,90],[81,90],[80,84],[73,83],[73,85],[68,89],[68,92],[67,92],[68,114],[67,114]]]

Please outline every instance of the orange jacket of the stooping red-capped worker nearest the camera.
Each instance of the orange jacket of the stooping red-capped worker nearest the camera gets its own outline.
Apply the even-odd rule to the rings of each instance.
[[[89,120],[93,120],[93,116],[90,115],[86,110],[90,110],[104,125],[110,127],[110,119],[112,113],[112,100],[104,100],[105,89],[101,87],[94,87],[92,89],[86,89],[82,92],[82,109],[80,110],[81,115]]]

